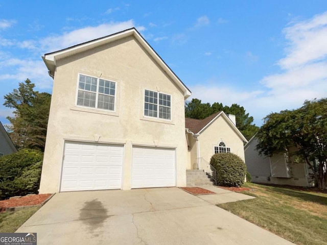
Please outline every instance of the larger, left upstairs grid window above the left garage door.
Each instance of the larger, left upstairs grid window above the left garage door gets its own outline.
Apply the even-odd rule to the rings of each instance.
[[[79,75],[77,105],[113,111],[115,86],[111,81]]]

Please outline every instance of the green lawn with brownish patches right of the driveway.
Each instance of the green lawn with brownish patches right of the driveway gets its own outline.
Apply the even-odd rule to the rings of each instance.
[[[327,194],[245,183],[255,199],[217,205],[298,245],[327,244]]]

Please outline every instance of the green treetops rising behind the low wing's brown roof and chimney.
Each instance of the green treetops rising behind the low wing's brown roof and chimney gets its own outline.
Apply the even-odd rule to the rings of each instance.
[[[223,111],[226,114],[232,114],[236,116],[236,127],[241,131],[246,139],[252,138],[252,136],[259,130],[259,127],[253,124],[253,117],[246,113],[243,106],[238,104],[232,104],[229,106],[223,106],[222,103],[201,103],[201,100],[192,99],[192,101],[185,105],[185,117],[194,119],[204,119],[219,111]]]

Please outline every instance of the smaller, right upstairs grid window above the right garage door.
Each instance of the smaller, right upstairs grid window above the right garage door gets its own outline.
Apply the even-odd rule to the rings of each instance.
[[[171,95],[145,90],[144,115],[171,119]]]

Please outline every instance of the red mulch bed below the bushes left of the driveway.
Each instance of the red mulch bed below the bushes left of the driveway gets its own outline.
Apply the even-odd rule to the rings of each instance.
[[[6,211],[10,207],[32,206],[43,203],[51,194],[28,195],[21,198],[12,198],[0,201],[0,212]]]

